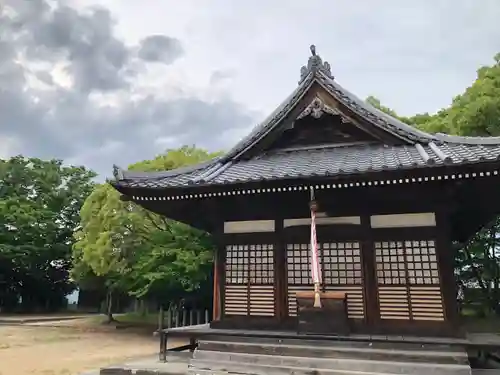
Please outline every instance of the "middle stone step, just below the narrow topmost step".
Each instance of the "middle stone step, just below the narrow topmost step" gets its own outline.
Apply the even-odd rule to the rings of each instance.
[[[429,350],[400,350],[379,349],[370,345],[364,346],[340,346],[340,345],[317,345],[316,342],[293,343],[284,345],[282,343],[252,343],[252,342],[227,342],[207,341],[198,343],[199,351],[227,352],[279,355],[292,357],[312,358],[344,358],[344,359],[369,359],[369,360],[392,360],[399,362],[433,362],[449,364],[468,364],[467,353],[458,351],[429,351]]]

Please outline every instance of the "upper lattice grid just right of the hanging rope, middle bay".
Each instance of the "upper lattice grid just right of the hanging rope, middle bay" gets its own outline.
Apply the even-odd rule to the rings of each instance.
[[[359,242],[322,243],[320,254],[325,285],[362,284]]]

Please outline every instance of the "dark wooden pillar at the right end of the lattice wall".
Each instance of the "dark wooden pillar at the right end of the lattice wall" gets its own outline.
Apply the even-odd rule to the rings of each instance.
[[[455,280],[455,253],[450,238],[450,222],[447,210],[436,212],[436,252],[439,265],[441,295],[446,321],[452,333],[461,335],[460,317],[457,305],[457,283]]]

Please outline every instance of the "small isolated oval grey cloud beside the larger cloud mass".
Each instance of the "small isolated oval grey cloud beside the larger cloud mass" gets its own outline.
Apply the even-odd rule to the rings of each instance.
[[[139,58],[171,64],[184,53],[179,40],[165,35],[151,35],[141,40]]]

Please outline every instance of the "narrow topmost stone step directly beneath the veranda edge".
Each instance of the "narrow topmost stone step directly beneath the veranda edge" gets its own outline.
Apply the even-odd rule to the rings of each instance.
[[[423,350],[426,352],[432,351],[434,352],[450,352],[454,350],[461,351],[460,346],[450,346],[446,344],[442,344],[436,342],[434,344],[431,343],[418,343],[418,342],[381,342],[381,341],[370,341],[370,340],[340,340],[335,337],[329,338],[328,340],[319,340],[319,339],[281,339],[281,338],[269,338],[269,337],[245,337],[245,336],[206,336],[202,341],[209,342],[236,342],[236,343],[258,343],[258,344],[273,344],[273,345],[309,345],[314,347],[319,346],[327,346],[327,347],[352,347],[352,348],[375,348],[375,349],[394,349],[397,347],[398,349],[403,350]]]

